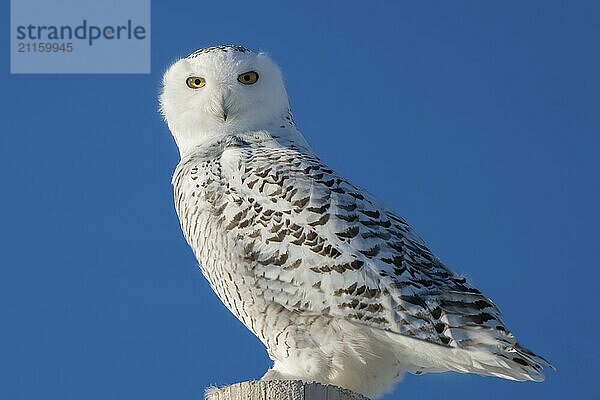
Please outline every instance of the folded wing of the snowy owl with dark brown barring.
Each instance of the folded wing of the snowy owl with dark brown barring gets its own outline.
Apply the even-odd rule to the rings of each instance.
[[[264,297],[441,346],[487,348],[539,374],[540,359],[521,350],[487,297],[316,156],[233,143],[221,164],[219,212]]]

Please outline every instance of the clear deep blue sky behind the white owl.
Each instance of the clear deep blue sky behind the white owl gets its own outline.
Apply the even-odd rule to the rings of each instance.
[[[150,75],[1,58],[0,399],[198,400],[269,367],[184,242],[156,111],[169,63],[223,43],[268,51],[322,158],[558,367],[408,376],[387,399],[600,398],[598,2],[153,3]]]

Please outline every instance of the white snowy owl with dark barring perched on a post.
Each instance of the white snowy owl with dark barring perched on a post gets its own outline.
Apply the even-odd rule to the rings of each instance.
[[[405,372],[544,379],[550,365],[490,299],[319,159],[266,54],[195,51],[168,68],[160,105],[181,155],[181,228],[219,299],[266,346],[263,379],[368,397]]]

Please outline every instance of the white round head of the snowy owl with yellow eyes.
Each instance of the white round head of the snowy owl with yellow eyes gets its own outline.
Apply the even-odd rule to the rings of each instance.
[[[277,65],[240,46],[200,49],[171,65],[160,107],[182,153],[214,135],[268,129],[289,110]]]

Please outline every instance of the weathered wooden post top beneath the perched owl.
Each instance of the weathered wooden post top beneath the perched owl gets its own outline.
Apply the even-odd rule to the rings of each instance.
[[[302,381],[248,381],[208,388],[206,400],[369,400],[348,389]]]

